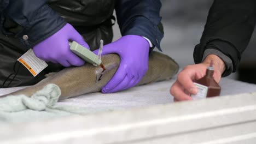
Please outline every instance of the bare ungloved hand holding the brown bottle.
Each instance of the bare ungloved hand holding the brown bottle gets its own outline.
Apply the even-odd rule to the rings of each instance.
[[[206,69],[213,61],[214,74],[213,78],[219,82],[222,73],[225,70],[225,64],[216,55],[208,55],[200,64],[188,65],[177,76],[176,82],[173,83],[170,93],[174,97],[174,101],[193,100],[190,94],[196,94],[197,88],[193,81],[201,79],[206,74]]]

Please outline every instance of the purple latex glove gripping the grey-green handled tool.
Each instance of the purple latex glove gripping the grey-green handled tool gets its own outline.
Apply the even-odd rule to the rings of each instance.
[[[82,35],[67,23],[51,37],[35,45],[34,54],[46,62],[60,63],[64,67],[84,65],[85,61],[70,50],[68,40],[77,41],[78,44],[90,49]]]

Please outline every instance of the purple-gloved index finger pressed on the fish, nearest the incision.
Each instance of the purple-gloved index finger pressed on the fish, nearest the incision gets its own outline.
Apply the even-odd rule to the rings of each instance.
[[[114,74],[112,79],[107,83],[106,86],[102,88],[102,92],[109,93],[109,91],[111,91],[113,88],[119,85],[120,82],[122,82],[125,79],[125,76],[126,76],[126,69],[119,66],[117,72]]]

